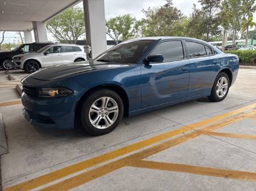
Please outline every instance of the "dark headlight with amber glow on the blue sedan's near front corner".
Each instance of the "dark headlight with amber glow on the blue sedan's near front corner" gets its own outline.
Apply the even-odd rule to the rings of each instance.
[[[38,89],[38,97],[64,97],[71,94],[73,94],[73,91],[64,87]]]

